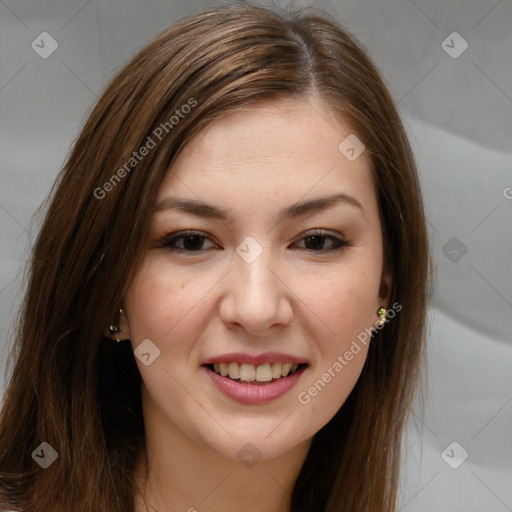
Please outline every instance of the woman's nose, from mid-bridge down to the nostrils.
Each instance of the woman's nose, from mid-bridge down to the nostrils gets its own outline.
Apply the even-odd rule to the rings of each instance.
[[[247,263],[235,256],[234,268],[226,276],[220,318],[251,334],[262,334],[274,326],[287,325],[293,316],[291,290],[279,265],[267,256],[269,250]]]

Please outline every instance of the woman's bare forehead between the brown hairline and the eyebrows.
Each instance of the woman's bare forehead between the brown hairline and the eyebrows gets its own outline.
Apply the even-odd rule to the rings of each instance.
[[[340,191],[371,202],[368,155],[350,161],[339,150],[352,133],[345,119],[318,100],[248,106],[214,121],[187,143],[156,202],[180,193],[257,207]]]

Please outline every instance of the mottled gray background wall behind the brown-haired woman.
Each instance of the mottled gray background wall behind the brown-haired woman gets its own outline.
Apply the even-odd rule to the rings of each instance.
[[[153,36],[216,4],[0,0],[1,373],[37,232],[31,219],[89,109]],[[429,386],[405,442],[400,510],[512,511],[512,4],[314,5],[342,21],[382,70],[429,211],[437,271]],[[31,47],[42,32],[58,43],[47,59]],[[464,41],[457,58],[445,51],[460,52]]]

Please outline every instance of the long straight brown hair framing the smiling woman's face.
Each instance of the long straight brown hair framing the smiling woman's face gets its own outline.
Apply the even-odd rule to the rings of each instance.
[[[1,506],[133,510],[141,379],[129,343],[116,345],[104,331],[143,257],[159,185],[212,120],[312,96],[350,122],[371,156],[395,276],[391,304],[403,311],[378,333],[352,393],[314,436],[291,510],[395,509],[430,283],[411,148],[379,72],[334,19],[313,8],[285,14],[244,4],[189,16],[140,51],[108,85],[58,176],[33,248],[0,416]],[[155,147],[141,157],[149,138]],[[47,469],[32,456],[42,442],[58,454]]]

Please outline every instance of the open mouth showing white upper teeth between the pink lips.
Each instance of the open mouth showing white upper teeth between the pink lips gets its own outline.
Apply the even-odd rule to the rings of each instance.
[[[307,363],[264,363],[255,366],[249,363],[211,363],[203,365],[208,370],[234,382],[248,385],[272,384],[294,373],[304,370]]]

